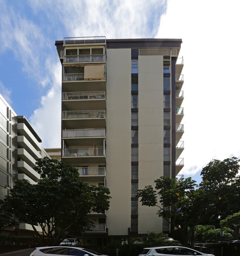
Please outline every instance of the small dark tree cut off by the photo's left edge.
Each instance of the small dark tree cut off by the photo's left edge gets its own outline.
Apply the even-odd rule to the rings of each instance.
[[[18,219],[13,212],[7,211],[6,204],[0,200],[0,233],[6,228],[14,228],[19,225]]]

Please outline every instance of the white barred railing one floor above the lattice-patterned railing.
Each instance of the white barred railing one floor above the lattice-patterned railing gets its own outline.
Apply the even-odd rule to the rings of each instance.
[[[76,110],[76,111],[63,111],[62,119],[72,118],[102,118],[106,117],[105,110]]]

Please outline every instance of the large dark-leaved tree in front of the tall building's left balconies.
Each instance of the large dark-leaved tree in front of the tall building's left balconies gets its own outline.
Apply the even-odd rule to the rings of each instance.
[[[69,233],[84,232],[92,224],[90,212],[104,213],[109,208],[109,189],[84,184],[73,166],[44,157],[37,159],[36,171],[41,177],[38,184],[17,180],[4,201],[20,222],[32,225],[42,245],[45,240],[55,245]]]

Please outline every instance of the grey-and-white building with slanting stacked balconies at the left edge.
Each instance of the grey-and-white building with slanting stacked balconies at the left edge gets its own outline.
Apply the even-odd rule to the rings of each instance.
[[[48,156],[41,139],[24,116],[18,116],[0,95],[0,199],[4,199],[15,180],[26,179],[36,184],[40,175],[34,170],[35,159]],[[39,226],[35,228],[42,232]],[[32,226],[21,223],[1,235],[32,235]]]

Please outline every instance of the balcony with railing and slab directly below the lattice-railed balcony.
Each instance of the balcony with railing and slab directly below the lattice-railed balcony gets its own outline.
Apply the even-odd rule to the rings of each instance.
[[[66,163],[106,163],[105,148],[63,149],[62,158]]]

